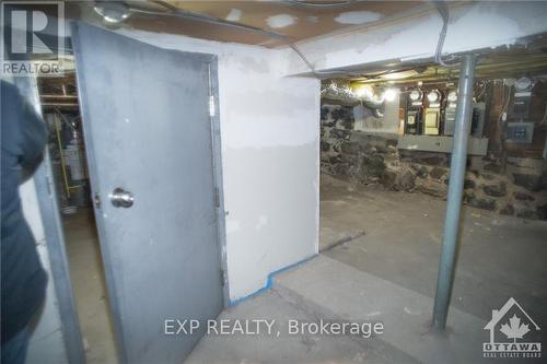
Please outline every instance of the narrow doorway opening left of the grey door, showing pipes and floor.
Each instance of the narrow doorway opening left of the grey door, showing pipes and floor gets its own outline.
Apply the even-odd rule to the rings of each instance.
[[[88,363],[117,363],[74,73],[38,78],[48,151]]]

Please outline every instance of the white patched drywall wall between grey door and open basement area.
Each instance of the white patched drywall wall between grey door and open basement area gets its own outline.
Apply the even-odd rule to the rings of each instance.
[[[271,272],[316,254],[319,81],[288,77],[284,49],[118,33],[218,56],[230,300],[265,287]]]

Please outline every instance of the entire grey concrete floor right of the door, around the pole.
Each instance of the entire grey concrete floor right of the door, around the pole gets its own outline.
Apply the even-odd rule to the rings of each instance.
[[[482,359],[484,326],[509,297],[546,327],[547,223],[464,208],[449,327],[439,336],[430,321],[444,210],[445,201],[426,195],[323,176],[323,253],[221,318],[275,318],[281,327],[292,318],[376,319],[385,334],[205,337],[186,363],[496,362]]]

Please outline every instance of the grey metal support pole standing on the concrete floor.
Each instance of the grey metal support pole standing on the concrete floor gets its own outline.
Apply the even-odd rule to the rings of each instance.
[[[452,283],[454,280],[454,262],[459,226],[459,211],[464,190],[465,166],[467,163],[467,139],[470,132],[473,113],[473,82],[475,77],[474,55],[464,56],[459,70],[458,96],[454,145],[450,167],[450,185],[446,201],[443,246],[439,263],[435,305],[433,308],[433,328],[444,330],[449,313]]]

